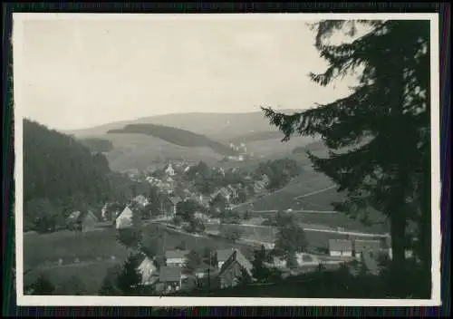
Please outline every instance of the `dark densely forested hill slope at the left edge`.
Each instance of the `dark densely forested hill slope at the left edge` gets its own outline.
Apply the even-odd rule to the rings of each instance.
[[[108,161],[72,137],[24,120],[24,227],[48,231],[72,209],[111,196]]]

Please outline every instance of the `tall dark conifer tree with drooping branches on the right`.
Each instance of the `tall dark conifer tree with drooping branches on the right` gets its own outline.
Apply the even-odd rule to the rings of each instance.
[[[369,32],[349,43],[328,43],[334,32]],[[362,68],[352,93],[307,111],[263,108],[284,132],[321,136],[328,158],[309,152],[313,167],[345,190],[337,209],[373,207],[390,220],[394,274],[404,265],[407,221],[419,226],[419,257],[430,269],[429,21],[323,21],[313,24],[315,46],[328,62],[313,82],[326,86]],[[400,277],[397,275],[397,278]]]

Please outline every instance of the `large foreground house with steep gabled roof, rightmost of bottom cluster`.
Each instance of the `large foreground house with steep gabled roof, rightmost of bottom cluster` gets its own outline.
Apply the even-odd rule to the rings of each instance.
[[[228,257],[218,272],[220,286],[222,288],[235,286],[241,282],[244,275],[252,279],[252,268],[252,263],[246,256],[242,255],[239,249],[234,249],[233,254]]]

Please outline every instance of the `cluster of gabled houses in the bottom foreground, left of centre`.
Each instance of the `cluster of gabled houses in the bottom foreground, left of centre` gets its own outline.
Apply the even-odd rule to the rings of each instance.
[[[188,250],[168,250],[163,258],[143,256],[138,267],[142,285],[151,285],[156,293],[169,294],[198,286],[228,287],[240,283],[242,276],[252,278],[252,264],[239,249],[230,248],[214,252],[217,265],[201,262],[188,269]]]

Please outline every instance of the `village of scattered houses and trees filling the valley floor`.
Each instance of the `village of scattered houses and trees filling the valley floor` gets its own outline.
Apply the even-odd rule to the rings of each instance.
[[[204,174],[207,174],[208,169],[210,177],[217,175],[225,178],[229,174],[230,177],[237,176],[240,179],[236,179],[236,184],[214,187],[211,194],[207,195],[206,191],[203,194],[197,189],[197,177],[203,174],[200,167],[205,169]],[[191,170],[196,171],[194,173]],[[191,173],[193,179],[188,178]],[[164,244],[160,254],[147,254],[146,249],[141,249],[140,246],[136,248],[141,259],[137,268],[141,285],[148,287],[152,294],[172,294],[200,287],[226,288],[259,280],[272,280],[256,278],[255,272],[259,266],[267,269],[265,276],[277,274],[282,278],[342,265],[349,265],[350,271],[355,274],[360,272],[358,269],[366,269],[367,273],[378,275],[380,258],[391,258],[390,237],[326,237],[327,251],[304,249],[295,251],[293,256],[274,253],[278,229],[273,230],[270,236],[262,236],[258,240],[247,239],[245,232],[237,227],[250,224],[251,219],[255,219],[255,222],[260,220],[256,222],[259,227],[265,218],[250,218],[246,216],[248,210],[239,213],[235,208],[241,202],[268,191],[266,186],[269,178],[265,174],[245,175],[238,172],[238,169],[225,171],[222,168],[209,169],[206,165],[169,161],[163,168],[154,168],[143,176],[130,173],[130,179],[146,180],[153,187],[155,198],[150,198],[149,194],[139,194],[122,206],[118,203],[106,203],[101,209],[101,218],[96,217],[99,214],[94,214],[92,210],[75,211],[69,216],[67,225],[69,229],[81,232],[105,227],[114,227],[118,232],[128,232],[151,224],[163,227]],[[222,185],[220,181],[218,184]],[[241,192],[245,195],[239,198],[238,194]],[[158,203],[153,205],[153,200]],[[284,214],[286,217],[292,216],[291,211]],[[167,250],[165,240],[169,232],[196,238],[221,238],[229,242],[231,247],[200,247],[196,251],[185,249],[184,243],[181,243],[180,247]],[[257,256],[261,258],[259,265],[256,264]]]

